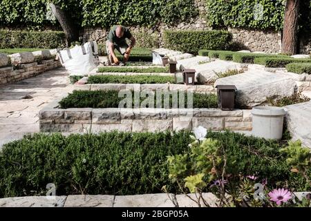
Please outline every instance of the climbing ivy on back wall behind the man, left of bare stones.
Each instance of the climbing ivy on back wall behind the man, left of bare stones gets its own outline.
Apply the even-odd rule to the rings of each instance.
[[[55,25],[46,17],[46,3],[56,3],[79,26],[109,28],[115,23],[153,26],[198,16],[194,0],[1,0],[1,26],[40,29]]]

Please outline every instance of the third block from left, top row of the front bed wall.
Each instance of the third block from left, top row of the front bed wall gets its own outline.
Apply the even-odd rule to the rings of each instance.
[[[117,108],[93,109],[93,124],[117,124],[120,123],[120,111]]]

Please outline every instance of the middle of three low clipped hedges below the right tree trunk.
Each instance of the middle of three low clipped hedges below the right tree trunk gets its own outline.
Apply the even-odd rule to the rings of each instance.
[[[296,59],[292,57],[257,57],[255,64],[261,64],[267,68],[285,68],[290,63],[311,63],[311,59]]]

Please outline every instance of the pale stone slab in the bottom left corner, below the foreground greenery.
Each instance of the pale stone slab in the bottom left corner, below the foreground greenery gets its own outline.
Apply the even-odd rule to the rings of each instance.
[[[63,207],[66,196],[28,196],[0,199],[0,207]]]

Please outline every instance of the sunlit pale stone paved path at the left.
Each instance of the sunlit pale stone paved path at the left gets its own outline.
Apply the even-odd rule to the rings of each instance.
[[[0,86],[0,149],[3,144],[39,132],[39,111],[73,90],[64,68]]]

